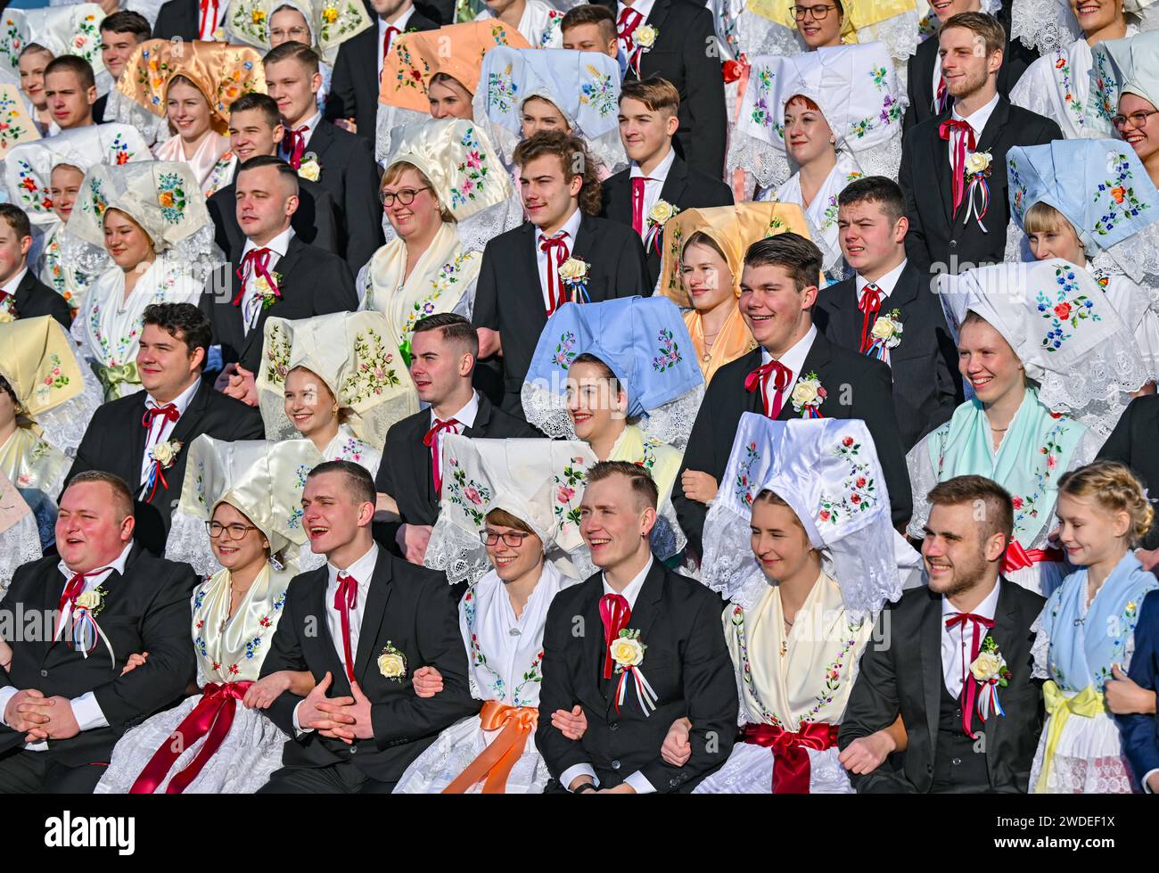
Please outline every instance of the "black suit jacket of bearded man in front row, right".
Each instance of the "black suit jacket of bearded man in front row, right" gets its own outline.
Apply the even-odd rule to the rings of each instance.
[[[990,791],[1026,793],[1030,763],[1042,733],[1042,684],[1030,678],[1034,633],[1030,624],[1045,601],[1014,582],[1001,583],[994,610],[994,638],[1013,674],[1001,689],[1005,715],[982,722],[985,734]],[[850,773],[860,793],[928,793],[934,779],[934,752],[941,708],[942,599],[928,588],[902,595],[877,617],[873,639],[861,665],[838,733],[844,750],[851,742],[889,727],[901,715],[909,735],[905,765],[894,772],[889,763],[870,773]],[[881,642],[877,642],[877,641]]]

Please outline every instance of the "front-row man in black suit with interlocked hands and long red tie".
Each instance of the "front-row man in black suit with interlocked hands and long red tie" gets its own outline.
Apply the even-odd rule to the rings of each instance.
[[[374,544],[365,468],[320,464],[301,504],[311,550],[327,562],[290,582],[262,676],[309,670],[318,684],[306,697],[284,692],[265,711],[293,739],[261,793],[389,793],[440,730],[479,712],[459,610],[443,574]],[[415,694],[422,667],[443,676],[435,697]],[[340,697],[327,697],[331,688]]]

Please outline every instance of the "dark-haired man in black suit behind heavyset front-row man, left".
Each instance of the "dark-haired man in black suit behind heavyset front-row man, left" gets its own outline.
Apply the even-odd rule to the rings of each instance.
[[[202,434],[226,441],[261,439],[262,416],[202,380],[212,328],[196,306],[152,304],[143,320],[137,372],[145,390],[96,410],[68,480],[103,470],[136,483],[137,541],[153,554],[165,554],[170,516],[185,479],[188,445]]]

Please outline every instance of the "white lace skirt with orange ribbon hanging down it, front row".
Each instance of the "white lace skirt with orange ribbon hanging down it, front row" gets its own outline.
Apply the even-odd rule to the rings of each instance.
[[[478,715],[455,722],[410,763],[394,787],[394,793],[438,794],[466,770],[500,733],[500,730],[482,730]],[[547,764],[535,751],[535,737],[532,734],[527,737],[523,755],[511,767],[506,793],[541,794],[549,778]],[[479,794],[482,790],[483,783],[480,781],[472,785],[467,793]]]

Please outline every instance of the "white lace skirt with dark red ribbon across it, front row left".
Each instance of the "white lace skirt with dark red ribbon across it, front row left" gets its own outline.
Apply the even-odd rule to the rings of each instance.
[[[162,743],[172,742],[174,729],[192,712],[202,696],[187,698],[178,706],[159,712],[129,730],[112,750],[112,761],[97,784],[96,794],[127,794],[141,770]],[[238,701],[233,725],[221,745],[187,787],[185,794],[253,794],[282,766],[282,747],[289,737],[263,714]],[[158,786],[163,793],[174,773],[181,772],[197,755],[205,737],[185,749],[169,767],[169,776]]]

